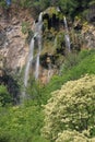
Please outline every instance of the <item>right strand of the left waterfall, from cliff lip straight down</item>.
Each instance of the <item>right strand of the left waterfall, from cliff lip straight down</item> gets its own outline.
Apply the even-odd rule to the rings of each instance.
[[[38,79],[39,75],[39,56],[41,51],[41,26],[43,26],[43,13],[39,14],[38,23],[36,25],[36,33],[38,39],[38,54],[36,57],[36,68],[35,68],[35,79]]]

